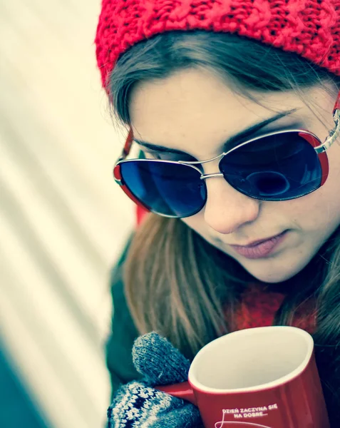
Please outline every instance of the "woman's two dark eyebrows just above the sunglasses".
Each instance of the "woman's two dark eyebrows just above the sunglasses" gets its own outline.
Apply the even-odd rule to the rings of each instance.
[[[275,116],[272,116],[272,118],[268,118],[265,121],[256,123],[253,126],[250,126],[249,128],[244,129],[243,131],[235,134],[235,136],[232,136],[228,138],[228,140],[223,144],[222,150],[226,151],[227,148],[231,148],[235,143],[239,143],[239,141],[244,140],[245,138],[248,138],[252,136],[252,134],[256,133],[257,131],[260,131],[264,126],[269,125],[269,123],[273,123],[274,121],[278,121],[279,119],[288,116],[291,113],[294,113],[297,111],[297,108],[292,108],[292,110],[282,111],[281,113],[278,113]],[[187,153],[176,150],[175,148],[168,148],[165,146],[158,146],[157,144],[148,143],[147,141],[138,140],[137,138],[133,138],[133,141],[138,143],[140,146],[143,146],[145,148],[148,148],[149,150],[160,152],[160,153],[175,153],[178,155],[186,155]]]

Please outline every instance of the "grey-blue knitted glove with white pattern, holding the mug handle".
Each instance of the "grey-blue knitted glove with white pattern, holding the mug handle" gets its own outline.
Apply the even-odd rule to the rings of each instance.
[[[108,428],[200,428],[197,407],[153,386],[187,380],[190,362],[158,333],[138,337],[133,364],[143,375],[118,389],[108,408]]]

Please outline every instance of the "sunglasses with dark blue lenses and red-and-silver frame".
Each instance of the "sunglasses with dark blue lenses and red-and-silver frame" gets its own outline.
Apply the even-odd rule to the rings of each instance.
[[[135,203],[172,218],[190,217],[202,210],[207,201],[205,180],[212,177],[225,178],[254,199],[301,198],[324,185],[328,177],[326,150],[340,133],[340,92],[333,117],[335,126],[324,143],[309,131],[278,131],[244,141],[208,161],[195,162],[127,160],[133,143],[130,130],[113,175]],[[220,172],[204,174],[201,165],[217,159]]]

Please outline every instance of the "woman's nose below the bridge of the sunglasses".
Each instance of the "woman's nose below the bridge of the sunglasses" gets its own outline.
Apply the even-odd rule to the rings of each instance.
[[[206,179],[205,222],[219,233],[233,233],[259,215],[259,200],[238,192],[222,177]]]

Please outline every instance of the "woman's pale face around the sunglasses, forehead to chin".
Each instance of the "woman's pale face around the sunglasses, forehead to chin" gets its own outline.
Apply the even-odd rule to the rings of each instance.
[[[174,154],[143,147],[148,157],[204,161],[220,155],[223,143],[245,128],[292,109],[292,113],[269,124],[256,136],[302,128],[315,133],[323,142],[334,128],[331,112],[336,93],[331,96],[324,89],[312,88],[305,95],[312,109],[292,92],[254,93],[262,103],[260,106],[237,96],[232,86],[213,73],[190,69],[161,81],[139,83],[130,99],[130,116],[135,138],[183,152]],[[222,177],[208,178],[205,207],[182,221],[235,258],[258,280],[287,280],[309,263],[340,224],[339,138],[327,156],[326,183],[294,200],[255,200],[239,193]],[[205,173],[218,173],[218,161],[204,164]],[[282,233],[281,238],[252,248],[232,246],[248,245]]]

